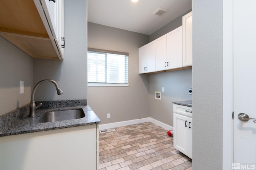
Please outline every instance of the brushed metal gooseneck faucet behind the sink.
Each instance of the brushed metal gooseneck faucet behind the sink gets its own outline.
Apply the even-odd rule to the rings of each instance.
[[[34,87],[34,89],[32,91],[32,94],[31,94],[31,102],[30,102],[30,107],[29,107],[29,109],[30,109],[29,117],[34,117],[36,115],[36,109],[38,107],[42,106],[42,103],[40,103],[40,104],[38,104],[38,106],[36,106],[36,103],[34,101],[34,95],[35,95],[35,92],[36,92],[36,89],[38,88],[38,86],[40,84],[42,84],[43,82],[52,82],[55,85],[55,87],[56,87],[57,94],[58,95],[63,94],[62,90],[58,87],[57,82],[54,81],[54,80],[46,79],[46,80],[41,80],[40,82],[38,82],[36,84],[36,86]]]

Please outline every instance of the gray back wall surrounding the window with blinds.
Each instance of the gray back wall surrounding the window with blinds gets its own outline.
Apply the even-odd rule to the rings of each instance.
[[[149,75],[138,74],[138,48],[148,40],[148,35],[88,22],[88,47],[129,53],[128,87],[88,87],[88,105],[102,124],[149,116]]]

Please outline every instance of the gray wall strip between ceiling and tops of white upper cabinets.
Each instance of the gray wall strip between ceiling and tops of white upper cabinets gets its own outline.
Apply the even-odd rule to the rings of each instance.
[[[168,24],[164,25],[162,28],[160,28],[157,31],[155,31],[154,33],[152,33],[149,37],[149,41],[151,42],[151,41],[161,37],[162,35],[181,26],[182,25],[182,16],[188,14],[191,11],[192,11],[192,9],[188,10],[187,12],[184,12],[184,14],[178,16],[176,19],[170,21]]]

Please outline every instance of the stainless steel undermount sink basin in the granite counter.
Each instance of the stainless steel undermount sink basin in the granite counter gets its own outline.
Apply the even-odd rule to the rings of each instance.
[[[60,111],[49,111],[44,113],[38,122],[53,122],[62,120],[72,120],[80,119],[85,117],[84,111],[82,109],[72,109],[72,110],[60,110]]]

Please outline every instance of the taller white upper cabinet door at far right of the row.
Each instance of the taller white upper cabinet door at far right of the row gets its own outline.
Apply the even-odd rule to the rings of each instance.
[[[192,12],[182,17],[183,66],[192,66]]]

